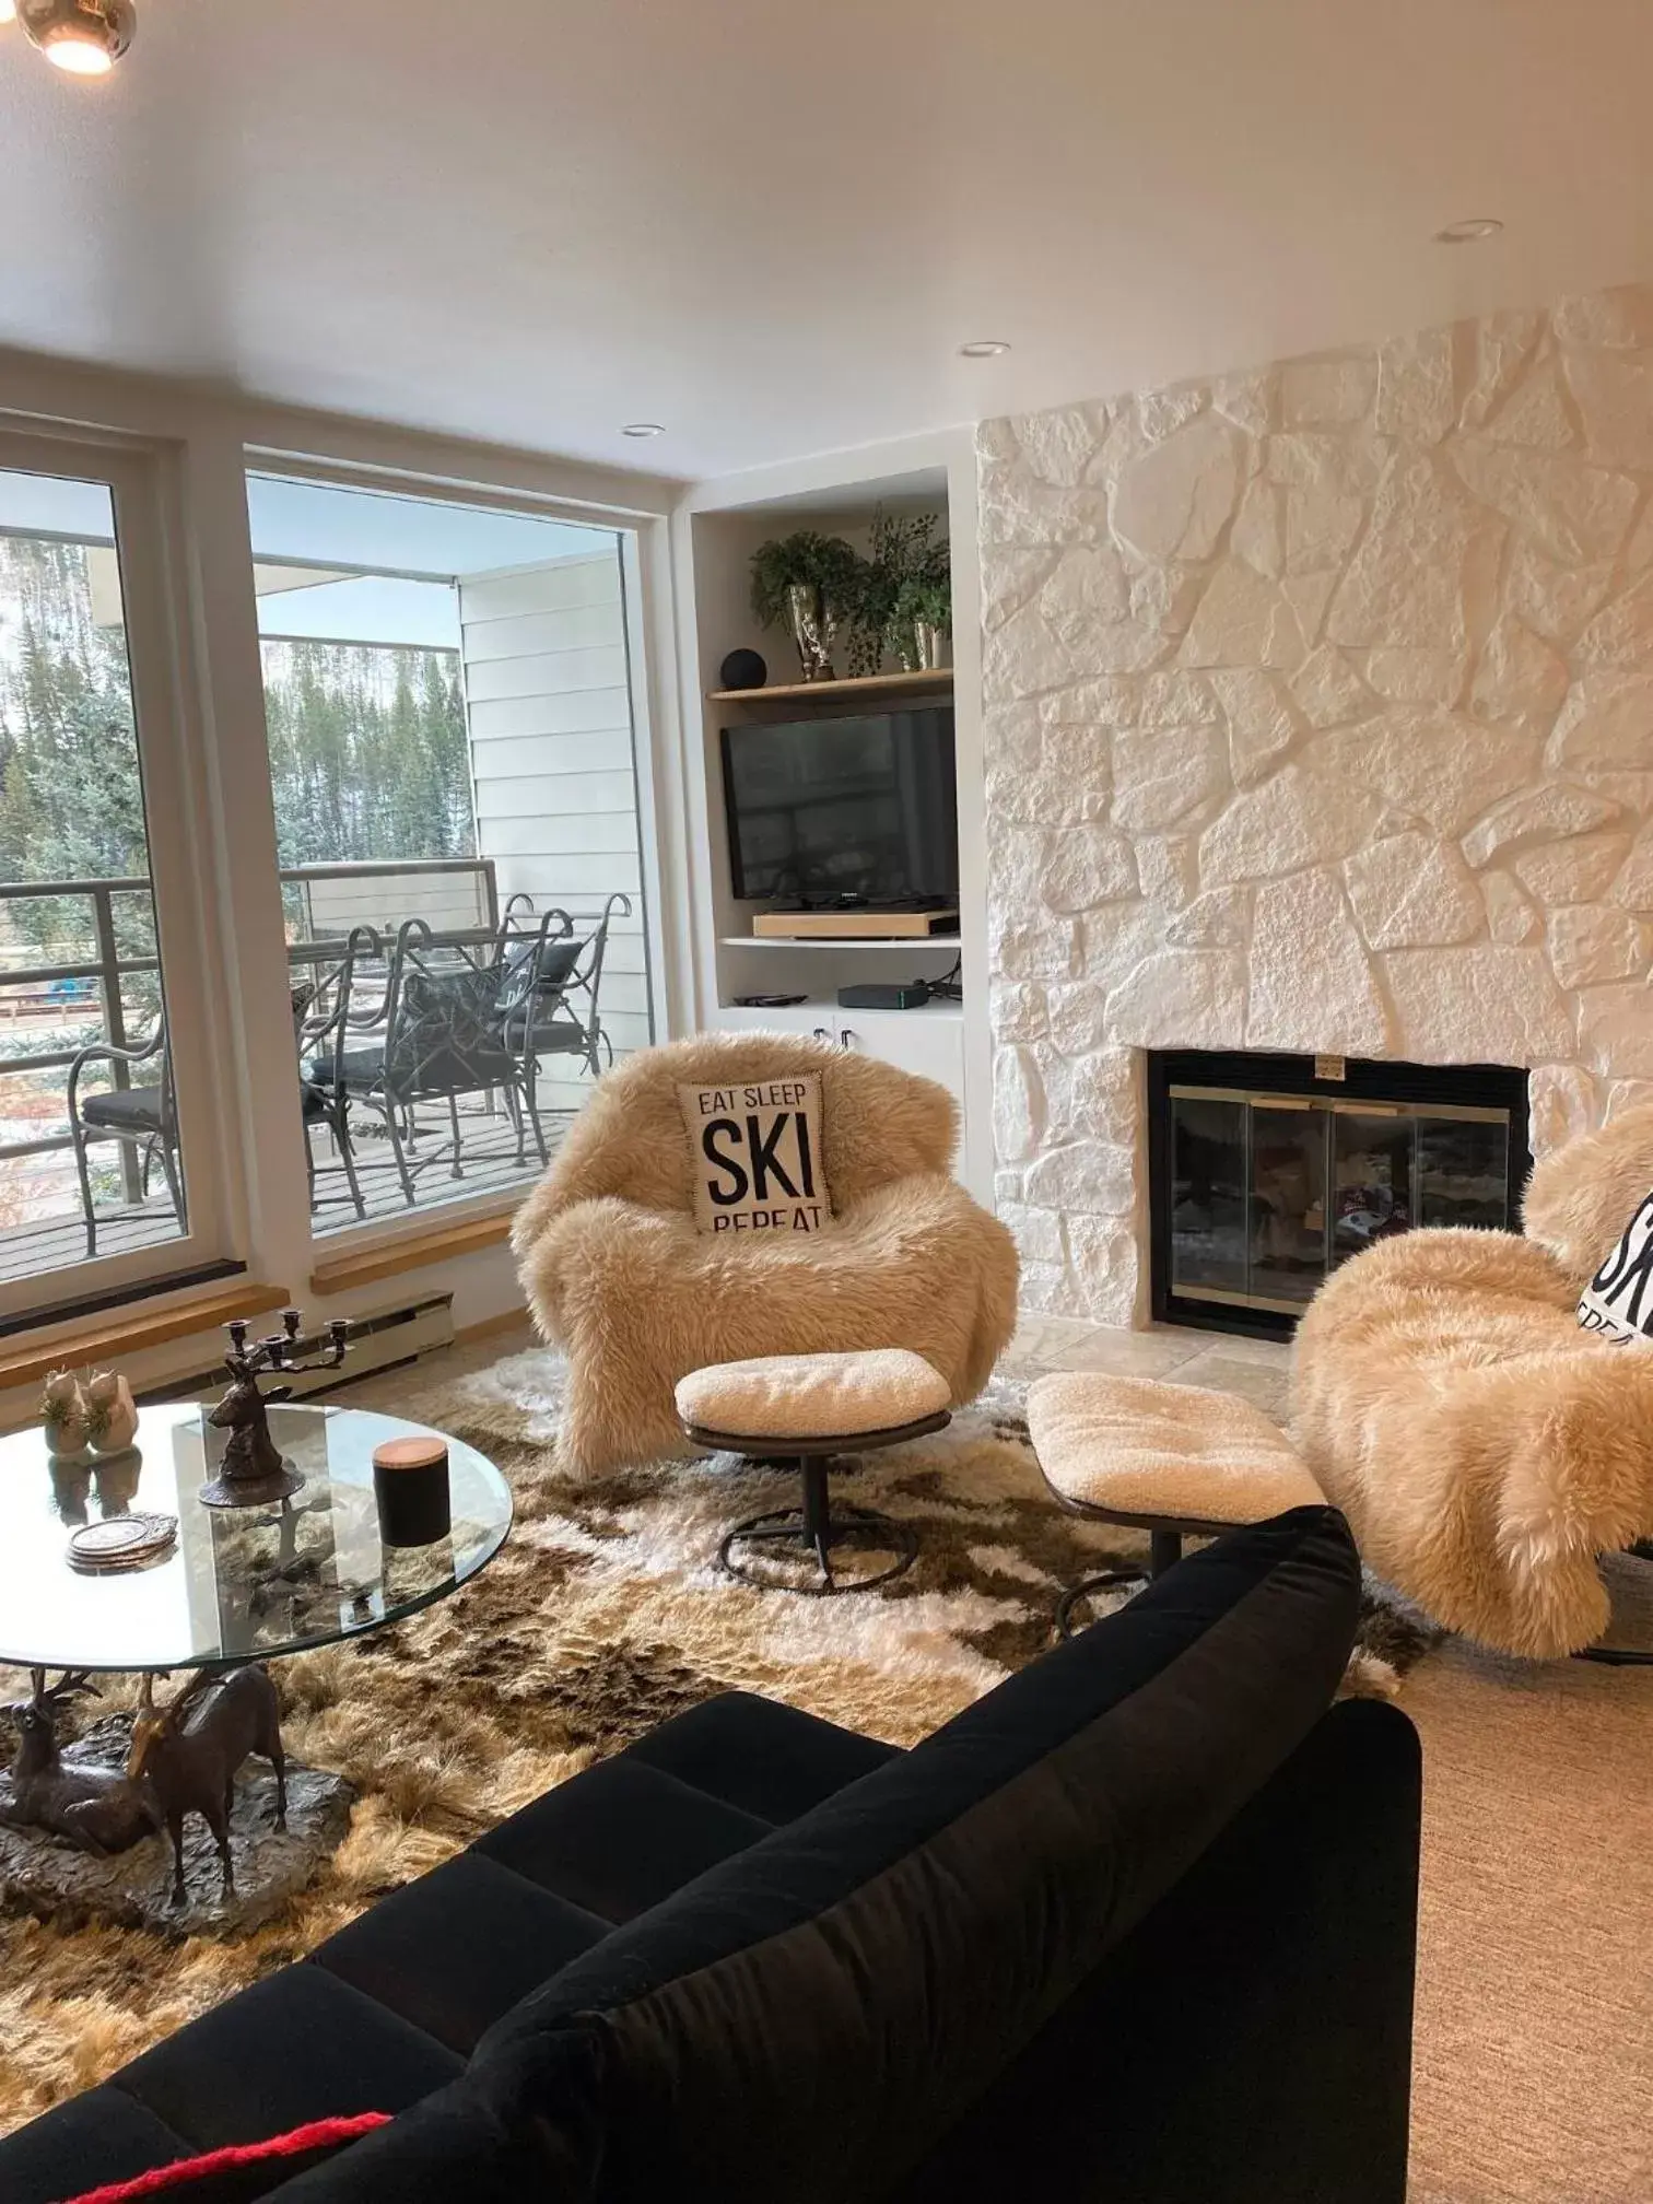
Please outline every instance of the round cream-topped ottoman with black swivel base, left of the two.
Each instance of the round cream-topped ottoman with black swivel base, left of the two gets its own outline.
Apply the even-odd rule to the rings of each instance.
[[[765,1355],[714,1362],[677,1389],[677,1413],[696,1446],[745,1455],[802,1477],[798,1508],[769,1508],[725,1532],[719,1563],[760,1591],[873,1591],[904,1576],[919,1556],[908,1523],[831,1501],[835,1455],[864,1455],[921,1439],[950,1422],[948,1384],[904,1349],[849,1355]],[[767,1576],[760,1556],[813,1565],[813,1582]],[[851,1576],[851,1554],[890,1554],[868,1576]]]

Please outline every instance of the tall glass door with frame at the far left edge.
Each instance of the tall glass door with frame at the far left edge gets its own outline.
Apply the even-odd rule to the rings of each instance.
[[[159,467],[0,436],[0,1325],[223,1261]]]

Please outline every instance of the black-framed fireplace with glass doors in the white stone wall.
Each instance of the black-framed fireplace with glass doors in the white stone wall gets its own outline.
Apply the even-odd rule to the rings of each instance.
[[[1289,1338],[1351,1254],[1413,1225],[1516,1223],[1527,1073],[1148,1051],[1153,1316]]]

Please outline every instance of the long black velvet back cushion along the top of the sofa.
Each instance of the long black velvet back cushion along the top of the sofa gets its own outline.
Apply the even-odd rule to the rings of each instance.
[[[893,2189],[1305,1739],[1358,1605],[1329,1508],[1219,1541],[615,1931],[284,2204]]]

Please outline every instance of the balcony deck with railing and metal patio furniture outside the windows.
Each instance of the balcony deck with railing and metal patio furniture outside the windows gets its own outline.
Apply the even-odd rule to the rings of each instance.
[[[555,1150],[595,1067],[613,1058],[604,954],[630,901],[613,895],[540,912],[514,895],[500,908],[489,857],[295,866],[282,873],[282,899],[304,1071],[293,1100],[306,1117],[315,1230],[406,1217],[538,1175],[540,1144]],[[20,906],[31,923],[20,923]],[[37,948],[44,934],[48,954]],[[487,974],[507,965],[514,976],[496,996]],[[447,1058],[432,1065],[428,1047],[421,1073],[417,1042],[406,1042],[421,985],[425,1040],[432,996],[441,1005],[445,985],[450,996],[480,985],[509,1025],[498,1084],[485,1082],[494,1056],[474,1067],[474,1082],[454,1069],[452,1029],[436,1034]],[[99,1256],[115,1256],[179,1236],[168,1133],[93,1137],[84,1190],[68,1111],[71,1080],[82,1122],[88,1109],[119,1122],[123,1109],[143,1111],[145,1095],[168,1091],[165,1045],[137,1062],[121,1054],[84,1062],[75,1076],[95,1045],[143,1049],[159,1009],[148,879],[0,886],[0,1281],[79,1263],[93,1239]],[[496,1016],[491,1038],[500,1031]],[[128,1102],[110,1106],[112,1098]]]

